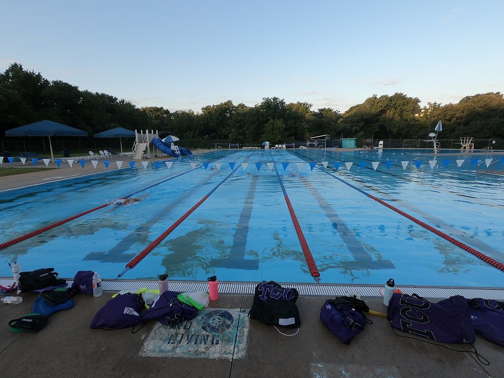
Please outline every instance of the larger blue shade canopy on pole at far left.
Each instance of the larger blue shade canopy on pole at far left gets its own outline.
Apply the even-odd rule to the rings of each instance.
[[[50,121],[45,119],[35,123],[25,124],[19,128],[7,130],[6,137],[48,137],[49,149],[51,150],[51,159],[54,161],[54,154],[52,153],[51,137],[53,136],[71,136],[71,137],[87,137],[88,133],[71,128],[66,124]]]

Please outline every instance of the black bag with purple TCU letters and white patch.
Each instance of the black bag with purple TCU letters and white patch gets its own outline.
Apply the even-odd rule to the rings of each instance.
[[[248,317],[259,319],[268,325],[299,328],[301,320],[296,305],[298,297],[295,288],[284,288],[275,281],[263,281],[256,285]]]

